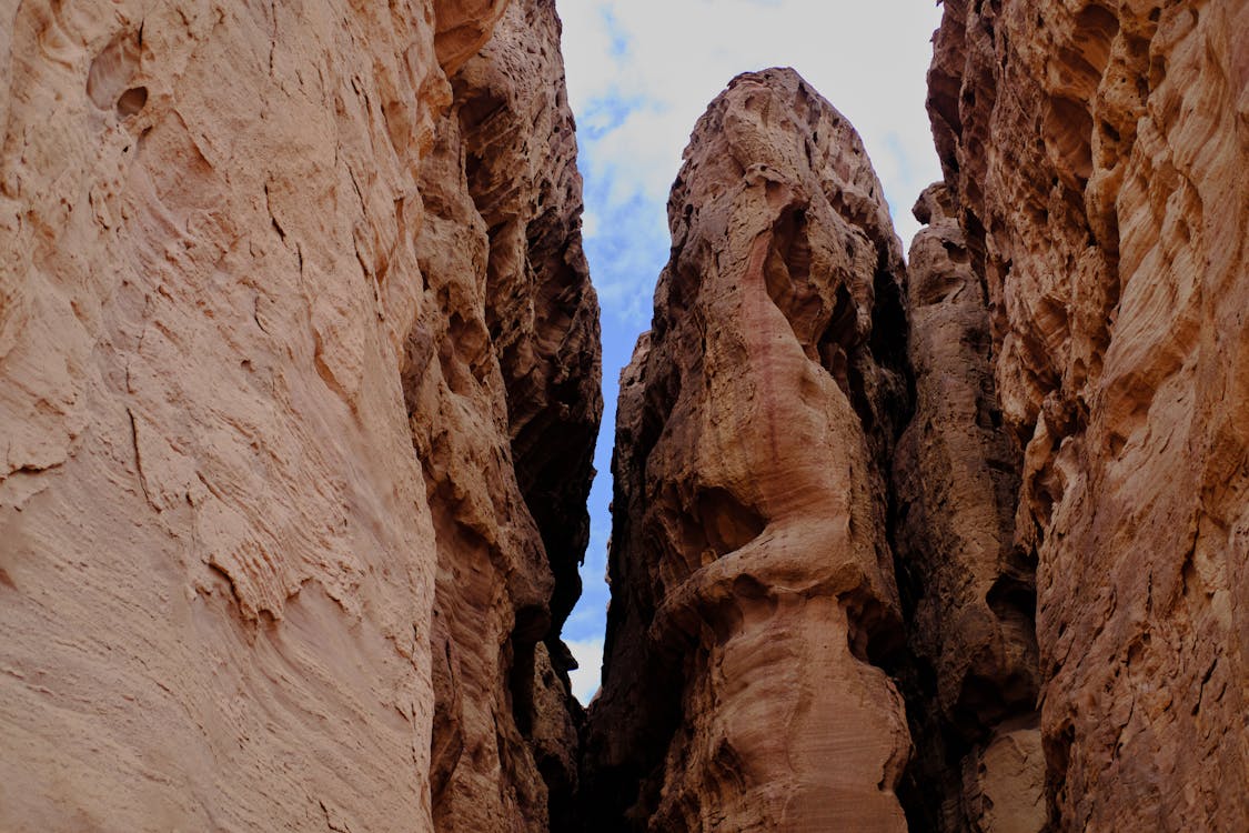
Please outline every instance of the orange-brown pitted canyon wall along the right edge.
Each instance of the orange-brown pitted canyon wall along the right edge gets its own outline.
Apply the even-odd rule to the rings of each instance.
[[[1247,42],[1239,0],[950,1],[936,39],[1059,829],[1249,829]]]

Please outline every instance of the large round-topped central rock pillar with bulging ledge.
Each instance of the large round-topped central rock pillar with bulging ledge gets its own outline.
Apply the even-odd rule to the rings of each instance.
[[[590,829],[902,831],[884,483],[903,265],[849,124],[792,70],[698,122],[622,376]]]

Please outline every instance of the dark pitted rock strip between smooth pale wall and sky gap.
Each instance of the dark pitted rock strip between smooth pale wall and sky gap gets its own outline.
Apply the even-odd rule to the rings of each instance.
[[[425,164],[405,391],[438,542],[433,821],[567,824],[580,594],[602,416],[598,303],[552,0],[518,0],[453,76]]]

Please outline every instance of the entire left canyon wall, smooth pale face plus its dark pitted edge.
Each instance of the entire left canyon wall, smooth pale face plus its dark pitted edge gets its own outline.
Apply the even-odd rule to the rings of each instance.
[[[570,789],[596,302],[505,6],[0,4],[0,827]]]

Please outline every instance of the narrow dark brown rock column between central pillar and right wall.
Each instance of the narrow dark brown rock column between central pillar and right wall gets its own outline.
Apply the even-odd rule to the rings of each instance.
[[[916,410],[894,461],[893,532],[912,604],[903,688],[918,749],[903,792],[919,829],[1034,832],[1045,824],[1045,767],[1035,571],[1013,535],[1019,453],[1002,427],[989,313],[948,190],[932,186],[914,211],[928,224],[907,265]],[[1012,741],[997,741],[999,729]],[[1028,814],[1003,827],[1005,808]]]

